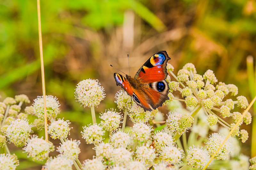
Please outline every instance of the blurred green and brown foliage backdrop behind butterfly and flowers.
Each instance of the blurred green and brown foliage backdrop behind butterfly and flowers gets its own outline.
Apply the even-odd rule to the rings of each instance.
[[[238,95],[252,100],[246,57],[254,59],[253,69],[254,0],[42,0],[41,19],[46,94],[59,98],[59,117],[72,122],[76,139],[92,121],[90,109],[75,100],[76,84],[99,79],[107,95],[96,112],[116,107],[120,87],[109,64],[128,74],[127,53],[132,76],[152,54],[166,50],[174,72],[188,62],[199,74],[212,69],[218,81],[236,84]],[[2,99],[26,94],[33,102],[42,95],[36,1],[0,1],[0,63]],[[250,147],[250,138],[243,145]],[[80,146],[84,159],[91,158],[92,146]]]

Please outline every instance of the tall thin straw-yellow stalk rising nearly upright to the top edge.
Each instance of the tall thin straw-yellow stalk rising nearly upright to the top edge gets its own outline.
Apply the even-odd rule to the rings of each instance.
[[[48,142],[40,0],[37,0],[37,19],[38,19],[39,50],[40,50],[40,61],[41,61],[41,75],[42,75],[42,90],[43,90],[43,97],[44,97],[44,132],[45,132],[45,140],[46,142]]]

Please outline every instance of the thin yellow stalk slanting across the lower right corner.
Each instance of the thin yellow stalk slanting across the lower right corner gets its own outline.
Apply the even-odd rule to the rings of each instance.
[[[252,107],[252,104],[255,102],[256,100],[256,96],[252,99],[252,102],[249,104],[249,106],[244,110],[244,113],[242,114],[242,116],[240,117],[240,119],[236,122],[235,126],[231,129],[231,131],[229,132],[228,136],[224,139],[224,141],[221,143],[221,145],[219,146],[219,148],[217,149],[217,151],[212,155],[211,159],[208,161],[208,163],[204,166],[204,168],[202,170],[205,170],[207,168],[207,166],[211,163],[212,159],[214,159],[214,157],[217,155],[217,153],[220,151],[220,149],[222,148],[222,146],[225,144],[225,142],[228,140],[228,138],[231,136],[231,134],[233,133],[233,131],[236,129],[236,127],[238,126],[238,124],[240,124],[240,122],[243,120],[245,114],[248,112],[248,110]]]

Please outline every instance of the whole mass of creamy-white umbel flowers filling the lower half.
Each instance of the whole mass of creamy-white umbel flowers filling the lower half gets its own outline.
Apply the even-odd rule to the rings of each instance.
[[[79,145],[81,142],[68,139],[72,128],[69,127],[71,123],[64,118],[56,119],[60,113],[60,104],[53,96],[46,96],[45,105],[48,134],[52,139],[61,142],[56,150],[59,155],[49,158],[50,152],[54,151],[52,142],[44,140],[43,137],[39,138],[37,135],[29,138],[30,133],[33,132],[32,127],[37,130],[44,129],[44,98],[42,96],[38,96],[32,106],[27,106],[24,113],[20,112],[22,103],[30,102],[25,95],[18,95],[15,98],[7,97],[0,102],[0,148],[7,148],[6,140],[18,147],[24,146],[23,150],[32,160],[47,159],[44,169],[48,170],[71,170],[74,167],[77,170],[148,170],[151,167],[163,170],[204,168],[209,163],[210,157],[214,157],[216,162],[229,158],[230,167],[237,165],[241,167],[240,169],[248,169],[249,159],[244,155],[239,155],[238,138],[242,142],[248,139],[248,132],[240,129],[240,126],[243,123],[250,124],[252,116],[246,112],[242,119],[239,110],[232,111],[235,106],[245,109],[248,106],[247,99],[244,96],[234,98],[233,96],[238,95],[238,88],[234,84],[218,83],[212,70],[207,70],[200,75],[197,74],[195,66],[188,63],[178,71],[176,76],[173,74],[172,65],[167,64],[167,69],[177,80],[172,81],[169,75],[166,79],[170,88],[169,100],[164,102],[164,107],[169,109],[167,119],[158,109],[144,111],[125,91],[120,90],[116,93],[115,103],[117,108],[124,112],[124,116],[122,112],[111,108],[99,114],[100,123],[97,124],[95,118],[97,113],[95,114],[94,107],[105,98],[104,88],[100,86],[98,80],[92,79],[83,80],[77,84],[76,99],[84,107],[91,107],[92,111],[93,124],[84,125],[80,135],[85,139],[81,142],[94,145],[93,159],[80,162]],[[181,98],[174,96],[175,91],[180,93]],[[184,102],[187,108],[184,109],[180,102]],[[33,124],[28,124],[28,117],[35,118]],[[132,122],[130,127],[125,127],[127,118],[130,118]],[[231,121],[224,121],[224,119]],[[239,126],[236,127],[238,122]],[[220,128],[219,133],[215,133],[218,123],[225,130]],[[227,132],[223,135],[221,131],[231,129],[235,130],[226,140]],[[210,130],[214,133],[207,140]],[[186,134],[188,131],[190,133]],[[179,140],[180,136],[182,140]],[[187,136],[189,136],[188,140]],[[197,139],[196,144],[204,145],[205,148],[194,145],[193,142]],[[6,149],[6,152],[8,153],[9,150]],[[216,155],[214,155],[215,152],[217,152]],[[256,169],[255,158],[250,161],[252,163],[250,169]],[[0,155],[0,169],[15,169],[18,165],[19,161],[15,155]]]

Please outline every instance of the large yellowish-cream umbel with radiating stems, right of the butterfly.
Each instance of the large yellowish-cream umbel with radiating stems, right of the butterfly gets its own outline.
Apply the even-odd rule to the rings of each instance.
[[[239,112],[232,112],[235,104],[242,109],[245,109],[249,105],[244,96],[237,96],[236,100],[231,99],[232,96],[238,95],[238,88],[234,84],[218,83],[212,70],[207,70],[203,75],[196,74],[195,66],[192,63],[187,63],[178,71],[178,76],[176,77],[173,74],[173,67],[171,65],[169,65],[169,67],[171,69],[168,71],[177,80],[169,82],[170,92],[179,91],[181,96],[185,98],[185,100],[178,98],[174,98],[174,100],[184,101],[187,107],[195,108],[195,110],[192,110],[193,117],[195,117],[196,112],[198,112],[197,110],[202,108],[205,115],[208,117],[207,122],[210,126],[219,122],[221,125],[231,130],[242,115]],[[188,129],[179,129],[183,125],[181,122],[176,122],[186,120],[186,118],[183,117],[179,119],[181,115],[182,114],[170,113],[168,116],[166,125],[173,133],[182,134],[190,128],[190,123],[193,123],[192,118],[187,117],[187,121],[189,120],[189,122],[187,122]],[[234,124],[228,124],[223,120],[227,117],[232,117]],[[243,122],[250,124],[251,120],[252,116],[248,112],[239,125],[243,124]],[[223,122],[225,122],[225,124],[223,124]],[[239,136],[242,142],[245,142],[248,138],[246,134],[246,130],[240,130],[240,128],[237,127],[232,136]]]

